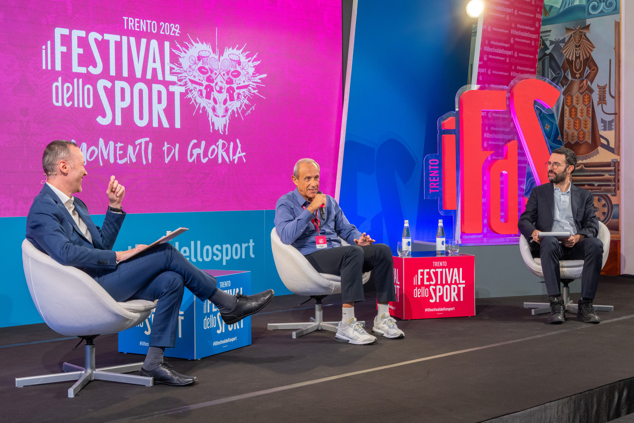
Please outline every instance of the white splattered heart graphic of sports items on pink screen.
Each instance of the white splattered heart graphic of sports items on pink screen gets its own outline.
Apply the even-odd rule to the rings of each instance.
[[[251,104],[249,99],[255,94],[261,96],[257,86],[264,85],[261,80],[266,74],[256,73],[260,63],[255,61],[257,53],[247,58],[249,52],[243,52],[244,47],[226,47],[220,55],[217,48],[214,53],[209,43],[200,41],[186,42],[185,48],[176,45],[180,49],[174,50],[179,55],[174,67],[178,85],[187,88],[188,98],[197,109],[200,107],[200,112],[207,110],[210,131],[226,134],[231,114],[244,119],[242,111]]]

